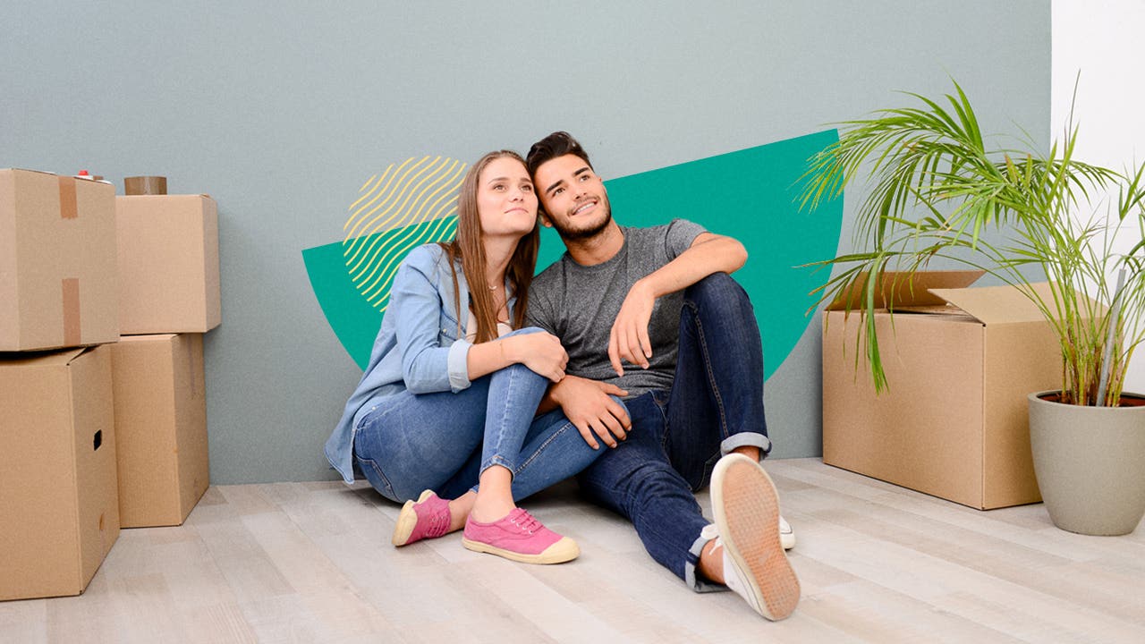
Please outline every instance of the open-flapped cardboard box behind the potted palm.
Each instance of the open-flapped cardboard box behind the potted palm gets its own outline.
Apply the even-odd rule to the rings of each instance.
[[[828,307],[824,463],[982,510],[1041,501],[1026,396],[1060,388],[1061,351],[1017,290],[958,288],[980,275],[935,272],[916,275],[913,289],[899,284],[893,329],[886,313],[876,316],[890,386],[878,395],[856,345],[861,315]]]

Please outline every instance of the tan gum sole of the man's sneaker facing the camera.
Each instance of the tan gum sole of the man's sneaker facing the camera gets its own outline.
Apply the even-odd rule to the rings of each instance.
[[[761,485],[771,488],[771,494],[759,494]],[[763,597],[764,616],[781,620],[799,603],[799,579],[780,541],[780,510],[774,489],[767,473],[755,462],[745,458],[731,463],[722,481],[724,503],[713,511],[717,523],[724,523],[731,532],[724,537],[725,547],[729,542],[735,544],[728,552],[741,568],[751,572],[751,579],[744,581],[757,597]],[[725,506],[736,511],[720,517]]]

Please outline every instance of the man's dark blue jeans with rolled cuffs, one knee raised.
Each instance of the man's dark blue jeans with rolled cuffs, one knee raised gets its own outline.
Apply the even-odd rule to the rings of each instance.
[[[764,354],[748,293],[725,273],[684,291],[680,346],[670,391],[625,401],[633,431],[585,470],[581,487],[627,517],[645,549],[695,590],[710,521],[695,490],[720,456],[741,446],[771,450],[764,419]]]

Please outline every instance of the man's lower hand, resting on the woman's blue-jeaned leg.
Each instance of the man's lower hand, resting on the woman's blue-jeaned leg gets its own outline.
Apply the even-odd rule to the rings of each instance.
[[[611,395],[627,395],[629,392],[608,383],[598,383],[578,376],[566,376],[550,391],[552,399],[561,406],[564,416],[576,425],[581,437],[593,449],[599,449],[597,437],[608,447],[616,447],[624,440],[632,421],[624,406]]]

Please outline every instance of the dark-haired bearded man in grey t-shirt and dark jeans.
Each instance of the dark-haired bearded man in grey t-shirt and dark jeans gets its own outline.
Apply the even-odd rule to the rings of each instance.
[[[527,164],[542,221],[568,250],[529,291],[528,323],[569,355],[547,402],[590,445],[613,448],[581,474],[582,489],[632,520],[648,553],[693,589],[726,584],[765,618],[785,618],[799,581],[759,466],[771,449],[763,348],[751,303],[728,276],[747,251],[679,219],[622,228],[564,132],[534,144]],[[714,525],[694,496],[709,479]]]

